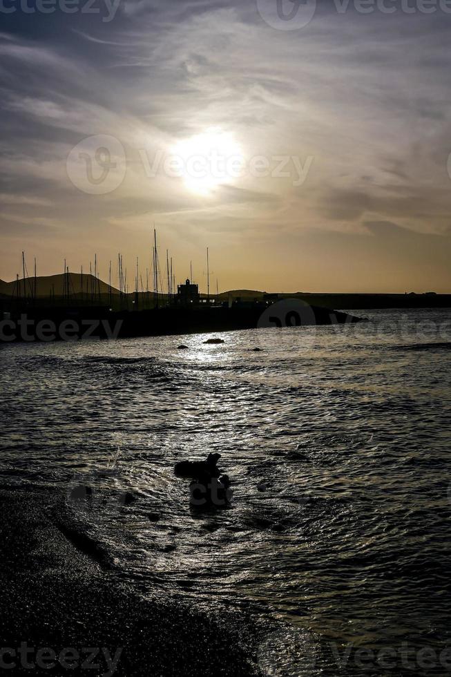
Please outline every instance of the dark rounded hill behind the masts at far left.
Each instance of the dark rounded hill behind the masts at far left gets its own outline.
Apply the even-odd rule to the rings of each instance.
[[[36,278],[36,296],[38,298],[50,296],[50,294],[62,296],[65,289],[65,277],[69,287],[69,294],[80,294],[81,291],[83,294],[91,294],[91,292],[93,294],[109,294],[109,285],[102,280],[96,279],[93,275],[88,274],[82,277],[81,273],[69,273],[67,276],[64,276],[64,274],[60,273],[58,275],[38,276]],[[25,289],[26,296],[33,296],[35,278],[25,278],[25,284],[23,278],[19,278],[19,292],[17,287],[17,280],[12,282],[0,280],[0,294],[23,296],[23,289]],[[115,289],[115,287],[111,287],[111,292],[113,294],[120,293],[119,289]]]

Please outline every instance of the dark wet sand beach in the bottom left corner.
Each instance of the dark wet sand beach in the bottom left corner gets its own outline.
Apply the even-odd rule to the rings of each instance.
[[[24,672],[111,674],[102,652],[93,659],[97,669],[81,669],[83,649],[106,647],[113,657],[122,647],[115,675],[258,674],[249,619],[210,618],[175,602],[143,600],[117,580],[105,553],[63,524],[62,509],[52,494],[0,492],[0,649],[26,642],[34,649],[30,661],[44,647],[57,656],[64,648],[81,654],[73,669],[57,663]],[[5,674],[22,671],[19,656],[3,660],[17,664]]]

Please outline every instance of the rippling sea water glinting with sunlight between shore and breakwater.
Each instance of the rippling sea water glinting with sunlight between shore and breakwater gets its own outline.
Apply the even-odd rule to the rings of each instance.
[[[267,674],[335,676],[333,647],[348,642],[441,649],[451,311],[355,314],[370,321],[218,334],[222,345],[3,346],[3,483],[64,490],[145,595],[287,621],[260,647]],[[173,465],[208,452],[233,502],[199,513]]]

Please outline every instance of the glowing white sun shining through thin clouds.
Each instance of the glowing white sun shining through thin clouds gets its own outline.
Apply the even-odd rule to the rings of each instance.
[[[209,127],[180,140],[171,149],[173,166],[189,191],[208,196],[242,175],[244,157],[231,132]]]

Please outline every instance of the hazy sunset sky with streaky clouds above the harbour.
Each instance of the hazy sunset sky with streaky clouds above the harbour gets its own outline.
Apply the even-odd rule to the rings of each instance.
[[[393,11],[392,11],[393,10]],[[1,0],[0,278],[451,292],[445,0]],[[151,276],[151,273],[148,273]]]

